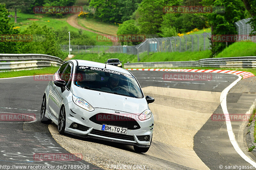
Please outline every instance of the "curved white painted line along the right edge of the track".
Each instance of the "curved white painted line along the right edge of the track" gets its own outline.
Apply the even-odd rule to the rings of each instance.
[[[233,83],[231,83],[228,87],[226,87],[220,94],[220,105],[221,108],[223,110],[223,113],[225,115],[226,118],[226,125],[227,125],[227,131],[228,131],[228,137],[229,140],[231,142],[231,144],[233,145],[234,149],[236,150],[236,152],[249,164],[251,164],[252,166],[254,166],[256,168],[256,163],[250,159],[249,157],[247,157],[244,152],[240,149],[240,147],[238,146],[237,142],[236,142],[236,138],[235,138],[235,134],[233,133],[232,130],[232,125],[231,122],[229,120],[229,115],[228,115],[228,108],[227,108],[227,94],[228,91],[234,86],[236,85],[236,83],[238,81],[241,80],[241,76],[237,75],[238,78],[236,79],[236,81],[234,81]]]

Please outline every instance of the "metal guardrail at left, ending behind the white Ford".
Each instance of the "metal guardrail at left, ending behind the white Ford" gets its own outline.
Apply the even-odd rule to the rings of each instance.
[[[0,70],[60,66],[59,57],[45,54],[0,54]]]

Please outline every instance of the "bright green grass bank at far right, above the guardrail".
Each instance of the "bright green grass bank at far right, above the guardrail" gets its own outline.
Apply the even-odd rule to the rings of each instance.
[[[235,42],[228,48],[220,52],[216,58],[220,57],[240,57],[256,56],[256,43],[254,42]]]

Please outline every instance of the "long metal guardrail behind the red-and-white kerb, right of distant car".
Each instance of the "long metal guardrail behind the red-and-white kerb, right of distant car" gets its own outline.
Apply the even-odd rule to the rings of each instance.
[[[256,67],[256,56],[205,58],[198,61],[181,62],[147,62],[147,63],[124,63],[124,68],[157,68],[157,67]]]

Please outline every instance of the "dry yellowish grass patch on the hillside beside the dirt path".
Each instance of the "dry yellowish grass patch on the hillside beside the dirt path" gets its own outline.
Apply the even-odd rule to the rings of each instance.
[[[115,35],[118,29],[118,25],[107,24],[93,18],[78,18],[77,21],[80,26],[100,33]]]

